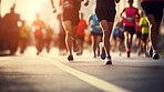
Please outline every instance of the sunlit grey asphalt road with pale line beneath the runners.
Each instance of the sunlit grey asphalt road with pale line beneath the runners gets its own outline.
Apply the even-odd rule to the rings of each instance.
[[[0,92],[164,92],[164,57],[127,59],[112,53],[112,65],[84,51],[69,62],[57,49],[0,57]]]

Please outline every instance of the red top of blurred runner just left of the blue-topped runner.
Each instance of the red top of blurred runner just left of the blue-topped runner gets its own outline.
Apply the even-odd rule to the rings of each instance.
[[[81,20],[79,25],[78,25],[78,31],[76,31],[76,34],[78,35],[85,35],[85,28],[88,28],[88,24],[86,24],[86,21],[85,20]]]

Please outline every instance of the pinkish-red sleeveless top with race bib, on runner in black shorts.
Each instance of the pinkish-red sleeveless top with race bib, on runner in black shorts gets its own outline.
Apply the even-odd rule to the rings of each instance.
[[[124,25],[131,25],[131,27],[135,27],[135,19],[133,18],[133,16],[135,16],[135,10],[134,7],[132,8],[126,8],[125,11],[125,18],[124,18]]]

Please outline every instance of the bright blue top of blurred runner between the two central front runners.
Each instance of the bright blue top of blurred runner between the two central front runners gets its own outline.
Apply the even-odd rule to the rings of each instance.
[[[92,28],[93,32],[103,33],[95,14],[92,14],[92,24],[93,24]]]

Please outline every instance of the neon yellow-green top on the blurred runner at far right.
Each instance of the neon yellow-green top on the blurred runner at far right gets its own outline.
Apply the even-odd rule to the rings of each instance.
[[[147,21],[146,17],[141,18],[140,25],[142,25],[142,34],[148,33],[150,25],[148,25],[148,21]]]

